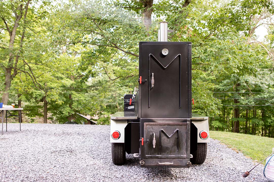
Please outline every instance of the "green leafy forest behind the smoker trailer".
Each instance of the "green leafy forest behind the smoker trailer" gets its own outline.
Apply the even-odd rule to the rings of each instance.
[[[274,137],[268,0],[0,1],[0,86],[25,121],[109,124],[138,87],[138,42],[192,42],[192,112],[210,129]],[[266,30],[260,32],[262,27]],[[265,36],[263,36],[263,35]],[[24,121],[24,122],[25,122]]]

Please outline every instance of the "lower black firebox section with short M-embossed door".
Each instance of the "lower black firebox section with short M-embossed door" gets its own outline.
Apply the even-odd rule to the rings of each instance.
[[[141,167],[188,167],[190,120],[184,118],[141,118]],[[155,138],[155,140],[154,140]]]

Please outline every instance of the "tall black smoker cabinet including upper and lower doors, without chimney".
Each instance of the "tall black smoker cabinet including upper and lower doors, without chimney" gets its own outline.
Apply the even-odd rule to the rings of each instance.
[[[167,51],[167,55],[163,51]],[[190,42],[139,43],[139,91],[135,112],[140,118],[143,140],[141,166],[189,166]]]

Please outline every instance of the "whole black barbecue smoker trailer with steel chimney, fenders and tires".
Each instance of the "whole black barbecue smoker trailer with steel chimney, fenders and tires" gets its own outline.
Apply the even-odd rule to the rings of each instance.
[[[124,96],[124,112],[110,117],[112,161],[125,152],[141,167],[202,164],[209,142],[208,117],[192,116],[191,42],[167,42],[160,22],[157,42],[139,42],[139,89]]]

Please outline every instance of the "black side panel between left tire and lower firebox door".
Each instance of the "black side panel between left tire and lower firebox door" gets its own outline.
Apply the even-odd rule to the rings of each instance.
[[[125,127],[125,151],[128,154],[139,153],[140,123],[130,122]]]

